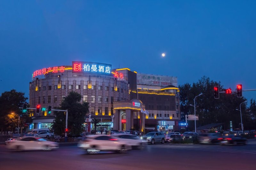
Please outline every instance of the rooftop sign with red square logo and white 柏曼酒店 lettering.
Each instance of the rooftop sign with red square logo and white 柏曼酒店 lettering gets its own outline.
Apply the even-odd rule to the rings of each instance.
[[[111,64],[72,61],[72,73],[111,75]]]

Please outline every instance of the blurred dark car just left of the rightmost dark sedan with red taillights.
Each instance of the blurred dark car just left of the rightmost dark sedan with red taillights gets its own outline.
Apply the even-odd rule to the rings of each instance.
[[[220,137],[222,136],[221,133],[201,133],[198,136],[198,142],[201,144],[205,143],[219,143]]]

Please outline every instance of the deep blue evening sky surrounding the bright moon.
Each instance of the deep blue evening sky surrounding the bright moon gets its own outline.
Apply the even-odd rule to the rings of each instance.
[[[256,89],[256,1],[1,1],[0,93],[36,69],[94,61]],[[162,58],[161,53],[166,53]],[[250,100],[256,92],[243,92]]]

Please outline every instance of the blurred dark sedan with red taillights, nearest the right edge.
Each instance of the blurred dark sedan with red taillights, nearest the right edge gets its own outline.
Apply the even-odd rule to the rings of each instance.
[[[232,144],[232,145],[237,145],[237,144],[244,144],[247,145],[248,144],[248,140],[246,138],[243,138],[242,136],[235,136],[235,135],[229,135],[229,136],[223,136],[222,138],[220,138],[221,145],[225,145],[225,144]]]

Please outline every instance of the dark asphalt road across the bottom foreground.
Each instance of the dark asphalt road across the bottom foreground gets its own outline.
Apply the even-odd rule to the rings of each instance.
[[[0,169],[256,169],[256,140],[248,145],[147,145],[127,153],[87,155],[76,146],[55,151],[9,151],[0,145]]]

